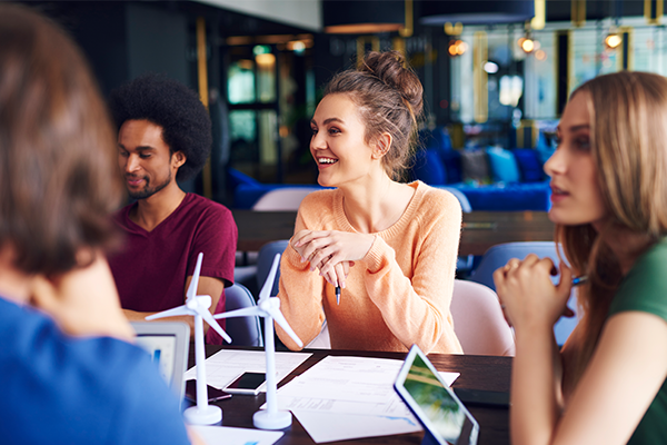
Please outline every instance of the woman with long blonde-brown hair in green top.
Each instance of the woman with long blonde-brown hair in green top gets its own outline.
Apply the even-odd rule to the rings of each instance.
[[[494,279],[516,329],[514,444],[667,442],[667,79],[618,72],[579,87],[545,165],[570,267],[510,260]],[[563,263],[561,263],[563,264]],[[558,352],[571,280],[583,319]]]

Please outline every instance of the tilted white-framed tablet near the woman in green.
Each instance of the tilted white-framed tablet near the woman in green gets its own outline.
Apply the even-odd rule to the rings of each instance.
[[[477,444],[477,421],[417,345],[410,348],[394,388],[424,426],[422,444]]]

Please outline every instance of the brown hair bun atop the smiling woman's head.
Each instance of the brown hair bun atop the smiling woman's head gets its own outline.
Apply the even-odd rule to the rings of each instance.
[[[398,90],[410,105],[414,116],[421,113],[424,87],[415,71],[407,68],[406,59],[400,52],[371,51],[364,58],[358,70],[374,75],[388,87]]]

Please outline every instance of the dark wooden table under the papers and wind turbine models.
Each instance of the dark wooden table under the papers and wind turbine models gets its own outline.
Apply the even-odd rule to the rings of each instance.
[[[211,355],[220,349],[220,346],[207,346],[207,355]],[[280,386],[291,380],[296,376],[306,372],[309,367],[325,358],[327,355],[347,355],[404,359],[402,353],[371,353],[371,352],[350,352],[350,350],[323,350],[310,349],[312,353],[306,362],[288,375]],[[193,365],[193,352],[190,354],[190,366]],[[454,383],[455,387],[488,390],[509,390],[509,380],[511,373],[510,357],[491,357],[474,355],[445,355],[430,354],[430,360],[438,370],[457,372],[461,375]],[[265,403],[265,395],[233,397],[217,403],[222,408],[223,426],[237,426],[252,428],[252,414]],[[470,406],[470,413],[479,423],[479,444],[480,445],[504,445],[509,444],[509,411],[507,408]],[[420,444],[424,433],[401,434],[396,436],[370,437],[364,439],[345,441],[340,444]],[[299,421],[292,416],[292,425],[285,429],[285,436],[278,444],[313,444],[308,433],[303,429]]]

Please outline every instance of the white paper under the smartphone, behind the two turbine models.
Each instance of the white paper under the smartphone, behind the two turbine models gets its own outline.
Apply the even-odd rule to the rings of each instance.
[[[283,379],[311,355],[310,353],[276,353],[277,382]],[[206,380],[210,386],[222,389],[245,372],[266,373],[266,369],[267,360],[263,350],[221,349],[206,359]],[[185,378],[197,378],[197,366],[188,369]]]

